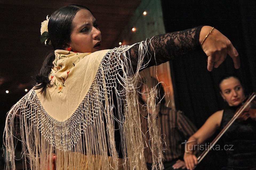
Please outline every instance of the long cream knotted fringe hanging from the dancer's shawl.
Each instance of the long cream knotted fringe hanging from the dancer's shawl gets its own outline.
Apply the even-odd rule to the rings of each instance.
[[[134,72],[127,53],[131,46],[110,50],[103,57],[85,98],[65,121],[49,116],[36,92],[30,90],[7,114],[4,134],[6,169],[15,169],[18,140],[22,143],[24,169],[51,170],[54,155],[58,170],[146,169],[138,80],[141,79],[139,70],[147,66],[143,63],[144,57],[153,57],[154,60],[147,51],[148,45],[145,41],[139,44],[138,67]],[[151,87],[147,107],[154,111],[156,90],[150,71],[144,70],[143,78],[147,87]],[[121,134],[123,159],[118,158],[119,148],[114,140],[115,121]],[[156,114],[149,115],[148,124],[153,169],[163,169]]]

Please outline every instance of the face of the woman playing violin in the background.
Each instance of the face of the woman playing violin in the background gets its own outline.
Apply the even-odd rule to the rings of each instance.
[[[240,81],[234,77],[224,79],[221,84],[221,96],[229,106],[238,106],[245,99],[245,94]]]

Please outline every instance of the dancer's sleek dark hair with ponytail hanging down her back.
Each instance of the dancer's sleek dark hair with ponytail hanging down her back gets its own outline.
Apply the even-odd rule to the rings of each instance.
[[[48,33],[49,39],[53,46],[53,50],[64,49],[64,45],[70,43],[70,36],[73,31],[72,21],[81,9],[89,10],[89,8],[81,5],[69,5],[63,8],[60,8],[53,12],[49,18],[48,22]],[[43,62],[40,73],[35,76],[35,89],[41,89],[41,93],[45,95],[47,86],[49,86],[49,74],[53,66],[53,60],[55,59],[54,52],[49,53],[45,61]]]

